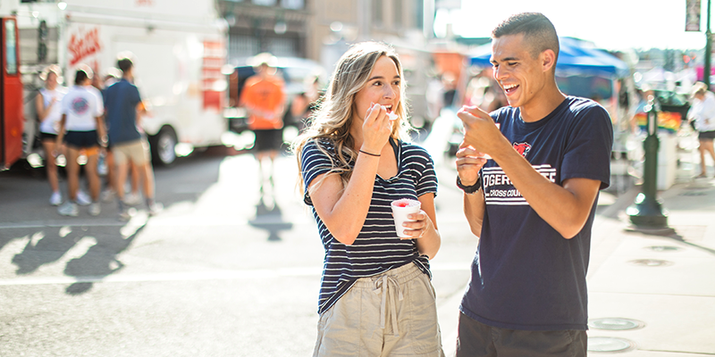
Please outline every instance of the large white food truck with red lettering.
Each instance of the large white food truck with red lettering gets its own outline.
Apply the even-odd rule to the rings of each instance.
[[[223,117],[227,81],[222,74],[227,26],[214,0],[0,4],[16,9],[25,78],[58,63],[69,86],[81,63],[104,77],[116,67],[119,54],[133,54],[135,84],[149,110],[140,124],[156,163],[171,164],[177,153],[221,144],[228,130]],[[35,83],[39,85],[37,79]],[[34,112],[27,99],[25,108]]]

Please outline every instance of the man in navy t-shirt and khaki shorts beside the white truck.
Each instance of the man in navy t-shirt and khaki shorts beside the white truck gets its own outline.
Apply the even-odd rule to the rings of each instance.
[[[134,80],[134,65],[129,58],[122,58],[117,66],[122,70],[122,79],[105,89],[105,108],[109,145],[117,169],[113,180],[114,191],[119,201],[120,220],[128,220],[130,215],[124,203],[124,183],[130,160],[139,170],[139,177],[144,179],[144,198],[149,214],[161,211],[162,206],[154,200],[154,170],[149,143],[137,129],[137,114],[146,111],[139,89],[131,83]]]

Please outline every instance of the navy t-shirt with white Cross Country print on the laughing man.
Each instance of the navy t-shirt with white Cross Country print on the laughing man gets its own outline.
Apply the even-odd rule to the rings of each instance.
[[[551,182],[563,186],[566,179],[584,178],[609,186],[613,129],[601,105],[568,96],[536,122],[525,122],[512,107],[491,115]],[[496,162],[484,165],[482,177],[482,235],[460,310],[497,328],[587,329],[585,277],[596,203],[584,228],[566,239],[534,212]]]

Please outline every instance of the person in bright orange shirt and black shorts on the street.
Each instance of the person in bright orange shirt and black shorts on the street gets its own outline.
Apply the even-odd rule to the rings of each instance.
[[[285,107],[285,83],[276,76],[275,57],[272,54],[257,54],[257,74],[246,79],[240,95],[240,104],[248,111],[248,129],[256,135],[254,153],[260,171],[261,193],[264,192],[263,161],[267,156],[271,166],[268,181],[273,187],[273,161],[283,143],[283,111]]]

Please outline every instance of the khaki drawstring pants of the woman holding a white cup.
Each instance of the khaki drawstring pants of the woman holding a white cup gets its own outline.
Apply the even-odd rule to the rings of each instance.
[[[320,315],[315,357],[443,357],[434,288],[414,263],[360,278]]]

